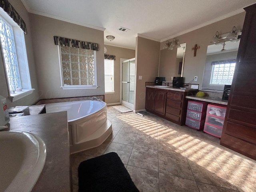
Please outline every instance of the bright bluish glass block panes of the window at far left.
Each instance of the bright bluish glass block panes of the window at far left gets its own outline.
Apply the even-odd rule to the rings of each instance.
[[[9,89],[16,90],[16,86],[21,87],[20,74],[14,45],[12,26],[0,18],[0,38]]]

